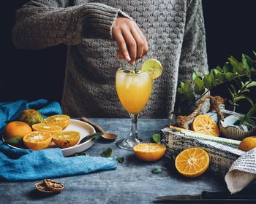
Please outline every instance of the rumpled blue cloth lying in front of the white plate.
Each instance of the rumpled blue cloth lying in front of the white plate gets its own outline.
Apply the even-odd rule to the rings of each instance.
[[[11,149],[0,141],[0,180],[31,181],[116,169],[114,158],[64,157],[61,149]]]

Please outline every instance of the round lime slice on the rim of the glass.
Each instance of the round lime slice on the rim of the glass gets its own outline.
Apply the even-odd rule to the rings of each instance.
[[[141,70],[150,72],[152,79],[157,79],[162,75],[162,64],[159,60],[149,59],[143,63]]]

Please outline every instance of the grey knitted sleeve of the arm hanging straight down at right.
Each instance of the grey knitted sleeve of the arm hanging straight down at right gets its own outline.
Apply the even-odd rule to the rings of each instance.
[[[193,71],[208,73],[206,34],[201,0],[188,1],[178,81],[190,81]]]

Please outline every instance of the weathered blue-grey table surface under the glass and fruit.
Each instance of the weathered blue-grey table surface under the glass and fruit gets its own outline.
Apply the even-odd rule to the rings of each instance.
[[[129,134],[129,119],[91,119],[106,132],[123,138]],[[168,123],[168,119],[139,119],[138,133],[150,139]],[[118,149],[116,141],[98,141],[86,152],[91,156],[111,147],[113,156],[124,157],[124,163],[116,170],[107,170],[83,176],[58,178],[65,184],[64,192],[57,195],[42,195],[35,190],[37,181],[1,182],[0,203],[158,203],[154,197],[162,195],[200,194],[202,191],[227,190],[222,178],[205,173],[199,178],[184,178],[173,166],[173,161],[163,157],[157,162],[142,162],[133,152]],[[1,167],[0,167],[1,168]],[[162,168],[159,175],[151,173]]]

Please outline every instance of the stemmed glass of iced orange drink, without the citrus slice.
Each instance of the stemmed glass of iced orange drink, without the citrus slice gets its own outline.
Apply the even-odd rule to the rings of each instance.
[[[138,137],[137,121],[140,111],[148,102],[152,90],[152,77],[149,72],[133,68],[119,68],[116,72],[116,91],[124,109],[132,119],[132,129],[129,138],[121,139],[117,146],[121,149],[133,149],[140,144]]]

